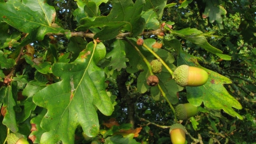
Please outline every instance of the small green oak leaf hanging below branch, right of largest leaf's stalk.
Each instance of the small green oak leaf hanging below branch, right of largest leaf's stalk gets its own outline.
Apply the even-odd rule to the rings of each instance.
[[[107,53],[106,58],[110,58],[110,63],[108,66],[111,66],[112,69],[117,69],[118,71],[122,68],[126,68],[126,54],[125,46],[128,45],[127,42],[120,39],[116,39],[114,42],[113,50]]]

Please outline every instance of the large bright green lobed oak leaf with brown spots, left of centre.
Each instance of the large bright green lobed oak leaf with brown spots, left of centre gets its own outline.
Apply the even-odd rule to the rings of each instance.
[[[81,125],[86,135],[99,132],[97,107],[102,114],[111,115],[113,106],[105,91],[102,69],[93,61],[93,43],[89,43],[73,63],[55,63],[52,71],[62,78],[34,95],[36,105],[46,108],[41,126],[47,132],[41,143],[73,143],[76,127]]]

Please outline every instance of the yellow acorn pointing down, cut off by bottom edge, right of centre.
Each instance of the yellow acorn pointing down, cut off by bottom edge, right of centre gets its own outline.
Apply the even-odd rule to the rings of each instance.
[[[173,124],[169,133],[173,144],[184,144],[186,142],[185,127],[182,124]]]

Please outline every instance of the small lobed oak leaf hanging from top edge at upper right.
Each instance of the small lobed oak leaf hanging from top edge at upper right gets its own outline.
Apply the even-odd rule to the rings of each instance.
[[[222,23],[221,15],[226,15],[227,11],[224,7],[219,5],[218,0],[208,0],[206,1],[206,7],[204,13],[202,15],[203,18],[209,17],[210,23],[217,21],[218,23]]]

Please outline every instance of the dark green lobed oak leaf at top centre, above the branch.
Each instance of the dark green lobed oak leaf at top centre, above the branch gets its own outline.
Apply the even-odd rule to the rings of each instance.
[[[127,30],[132,33],[132,36],[139,35],[145,22],[141,18],[141,12],[145,1],[132,0],[112,2],[113,9],[109,15],[96,17],[95,19],[83,18],[79,20],[81,26],[77,28],[79,31],[86,31],[89,28],[101,27],[101,31],[94,35],[94,39],[108,40],[115,38],[120,30]]]

